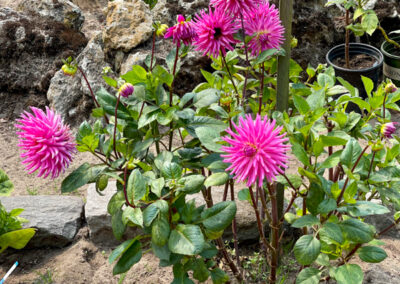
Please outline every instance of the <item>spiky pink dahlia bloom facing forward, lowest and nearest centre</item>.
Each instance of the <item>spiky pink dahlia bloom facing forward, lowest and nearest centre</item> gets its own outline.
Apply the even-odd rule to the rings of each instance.
[[[275,177],[282,173],[282,168],[287,168],[286,151],[290,145],[285,144],[288,138],[280,134],[282,126],[275,127],[275,120],[268,120],[265,116],[257,114],[255,120],[251,115],[239,118],[239,125],[233,124],[237,131],[231,129],[226,132],[231,136],[222,139],[230,146],[223,146],[221,150],[227,154],[224,162],[230,164],[226,169],[234,174],[237,182],[247,179],[247,186],[258,184],[262,186],[264,179],[268,182],[275,180]]]

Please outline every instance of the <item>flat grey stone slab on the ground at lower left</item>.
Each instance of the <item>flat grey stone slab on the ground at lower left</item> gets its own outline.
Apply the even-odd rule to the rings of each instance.
[[[24,228],[37,228],[28,247],[64,247],[71,243],[82,225],[83,201],[74,196],[1,197],[7,211],[23,208],[20,215],[29,223]]]

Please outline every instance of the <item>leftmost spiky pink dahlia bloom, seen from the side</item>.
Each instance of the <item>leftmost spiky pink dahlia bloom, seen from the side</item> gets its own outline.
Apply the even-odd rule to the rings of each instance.
[[[31,174],[39,171],[38,177],[56,178],[69,166],[76,152],[74,137],[61,116],[46,107],[46,112],[31,107],[33,112],[21,114],[17,119],[19,128],[18,146],[22,150],[22,163]]]

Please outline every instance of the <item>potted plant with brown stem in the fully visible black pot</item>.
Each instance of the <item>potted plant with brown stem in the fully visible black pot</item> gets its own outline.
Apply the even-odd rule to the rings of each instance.
[[[346,40],[344,44],[333,47],[326,55],[326,61],[333,66],[336,75],[342,77],[360,90],[360,96],[366,98],[362,77],[368,77],[376,86],[383,64],[383,55],[375,47],[363,43],[350,43],[350,32],[355,36],[365,33],[372,35],[379,26],[379,20],[373,10],[364,9],[363,0],[331,0],[326,6],[336,5],[346,11]],[[352,11],[352,17],[351,17]]]

